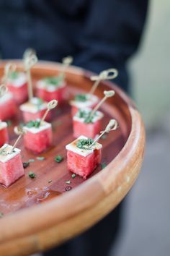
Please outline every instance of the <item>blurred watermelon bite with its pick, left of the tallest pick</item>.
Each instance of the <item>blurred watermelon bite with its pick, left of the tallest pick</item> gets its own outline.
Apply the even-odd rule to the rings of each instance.
[[[24,72],[16,71],[16,66],[8,63],[5,66],[6,86],[18,104],[27,100],[27,77]]]

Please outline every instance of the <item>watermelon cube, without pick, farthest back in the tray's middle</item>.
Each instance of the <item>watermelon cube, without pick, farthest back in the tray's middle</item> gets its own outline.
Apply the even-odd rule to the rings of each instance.
[[[37,82],[37,97],[44,101],[57,100],[61,104],[66,95],[66,82],[59,77],[46,77]]]

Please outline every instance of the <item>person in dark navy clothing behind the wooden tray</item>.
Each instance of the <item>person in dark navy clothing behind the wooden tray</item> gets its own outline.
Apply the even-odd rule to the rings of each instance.
[[[34,48],[39,59],[61,61],[93,72],[114,67],[115,82],[129,93],[126,63],[138,48],[148,0],[0,1],[0,52],[21,59]],[[45,256],[107,256],[114,244],[122,203],[102,221]]]

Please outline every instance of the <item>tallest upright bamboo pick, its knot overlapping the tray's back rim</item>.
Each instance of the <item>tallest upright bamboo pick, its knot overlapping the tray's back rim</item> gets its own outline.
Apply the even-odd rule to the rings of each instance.
[[[28,81],[28,98],[29,101],[32,100],[33,97],[33,89],[32,89],[32,78],[30,69],[37,63],[37,56],[35,54],[31,54],[29,51],[25,54],[24,58],[24,70],[27,73],[27,81]]]

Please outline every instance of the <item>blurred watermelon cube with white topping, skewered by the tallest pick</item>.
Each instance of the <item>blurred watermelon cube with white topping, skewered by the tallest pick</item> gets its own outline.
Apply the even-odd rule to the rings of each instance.
[[[24,122],[27,123],[31,120],[41,119],[47,110],[47,103],[40,98],[32,98],[32,101],[27,101],[20,107],[22,111]],[[45,120],[50,119],[50,112],[46,116]]]

